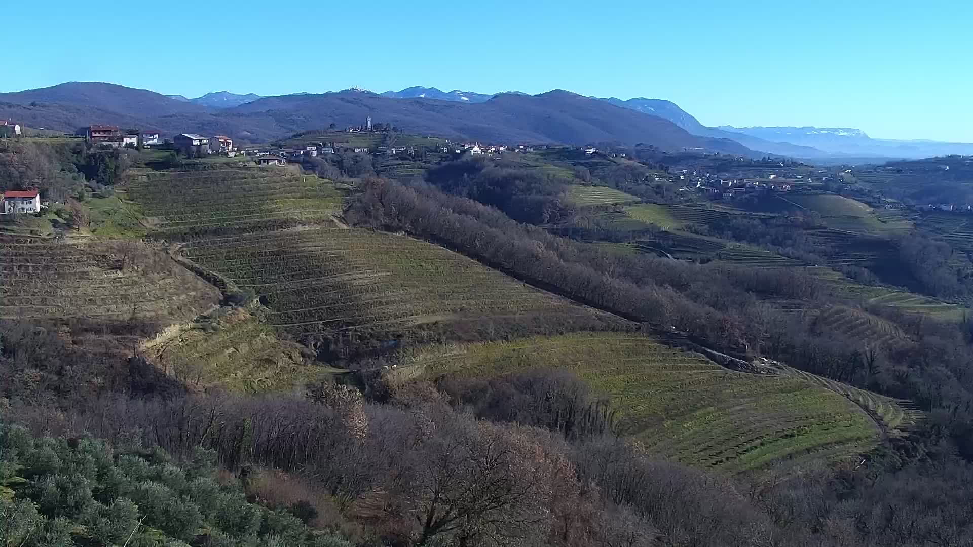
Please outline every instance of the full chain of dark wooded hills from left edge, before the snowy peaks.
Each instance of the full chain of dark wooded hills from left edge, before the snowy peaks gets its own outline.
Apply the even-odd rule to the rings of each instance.
[[[6,103],[6,104],[3,104]],[[91,124],[151,127],[163,133],[225,133],[266,141],[310,128],[357,126],[366,117],[410,132],[456,139],[585,145],[646,143],[664,151],[754,156],[739,143],[693,135],[672,122],[632,114],[568,91],[503,93],[481,103],[394,99],[370,91],[264,97],[233,108],[207,108],[114,84],[61,84],[0,94],[0,117],[30,127],[74,131]]]

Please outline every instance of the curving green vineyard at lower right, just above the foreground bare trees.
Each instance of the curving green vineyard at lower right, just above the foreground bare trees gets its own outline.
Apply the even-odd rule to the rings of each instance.
[[[858,456],[879,442],[876,423],[832,386],[729,371],[636,335],[425,347],[404,352],[393,374],[491,377],[527,367],[568,369],[607,394],[618,432],[650,453],[728,473]]]

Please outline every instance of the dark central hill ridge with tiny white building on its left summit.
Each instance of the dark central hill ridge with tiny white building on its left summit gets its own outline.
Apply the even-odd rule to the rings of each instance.
[[[584,145],[645,142],[663,150],[697,149],[752,155],[730,140],[707,139],[656,116],[630,112],[568,91],[502,93],[483,103],[393,99],[369,91],[284,95],[227,111],[227,116],[270,117],[298,130],[359,125],[367,117],[413,132],[486,141]],[[299,126],[300,124],[300,126]]]

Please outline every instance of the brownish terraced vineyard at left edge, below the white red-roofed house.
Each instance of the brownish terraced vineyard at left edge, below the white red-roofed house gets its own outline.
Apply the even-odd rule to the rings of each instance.
[[[0,235],[0,319],[183,321],[218,292],[136,242]]]

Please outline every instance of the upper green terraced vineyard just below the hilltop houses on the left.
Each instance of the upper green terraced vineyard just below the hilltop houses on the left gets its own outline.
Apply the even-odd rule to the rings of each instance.
[[[330,223],[343,198],[330,181],[287,167],[147,172],[126,191],[162,237]]]

